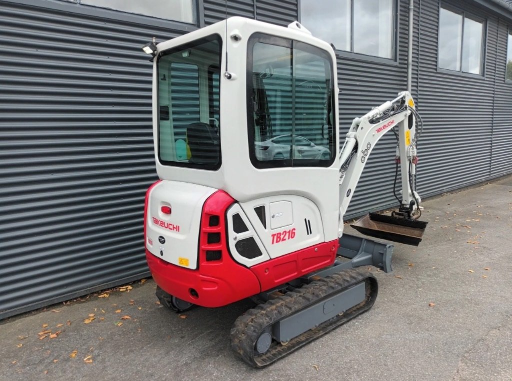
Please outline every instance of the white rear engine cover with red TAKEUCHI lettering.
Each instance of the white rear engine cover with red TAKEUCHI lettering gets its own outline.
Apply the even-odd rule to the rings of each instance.
[[[158,183],[148,199],[146,248],[166,262],[197,268],[201,212],[204,201],[215,191],[175,181]],[[171,213],[162,213],[162,206],[170,206]]]

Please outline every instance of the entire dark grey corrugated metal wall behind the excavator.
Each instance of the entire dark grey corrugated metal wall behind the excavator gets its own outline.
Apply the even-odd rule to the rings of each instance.
[[[225,17],[224,0],[201,3],[205,25]],[[0,0],[0,318],[147,274],[143,198],[156,173],[151,64],[140,47],[183,32],[77,7]],[[504,80],[512,25],[464,3],[487,18],[485,76],[439,73],[438,7],[415,2],[422,196],[512,172],[512,84]],[[406,87],[408,0],[399,9],[397,62],[338,57],[342,134]],[[227,10],[287,25],[297,19],[297,0],[228,0]],[[395,204],[394,150],[388,134],[348,216]]]

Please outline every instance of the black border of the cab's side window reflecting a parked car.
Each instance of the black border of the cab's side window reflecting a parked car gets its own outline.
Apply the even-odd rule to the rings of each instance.
[[[253,102],[252,102],[252,66],[253,66],[253,48],[254,45],[258,42],[268,43],[275,46],[280,46],[283,48],[293,49],[293,42],[300,43],[301,46],[305,46],[310,48],[311,50],[321,51],[325,53],[326,57],[328,57],[330,61],[329,52],[315,47],[306,42],[292,40],[289,38],[278,37],[267,33],[253,33],[250,35],[247,41],[247,60],[246,60],[246,112],[247,112],[247,144],[249,148],[249,159],[254,168],[257,169],[266,169],[266,168],[329,168],[334,163],[336,155],[336,131],[338,128],[337,118],[335,115],[335,103],[337,98],[335,97],[334,91],[334,75],[336,70],[336,63],[331,62],[331,113],[332,113],[332,157],[329,161],[327,160],[319,160],[319,159],[301,159],[293,161],[292,159],[280,159],[280,160],[269,160],[269,161],[260,161],[256,157],[255,151],[255,141],[254,141],[254,119],[253,119]],[[294,119],[294,115],[292,116]],[[282,134],[282,135],[292,135],[290,134]],[[272,139],[272,138],[271,138]]]

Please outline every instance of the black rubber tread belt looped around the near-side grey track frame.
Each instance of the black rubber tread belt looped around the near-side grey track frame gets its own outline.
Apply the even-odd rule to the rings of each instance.
[[[255,352],[254,345],[265,328],[312,304],[322,303],[326,298],[362,281],[366,282],[365,300],[345,311],[342,316],[337,315],[325,321],[291,339],[286,345],[272,341],[267,352],[263,354]],[[241,315],[231,328],[231,348],[247,364],[258,368],[265,367],[369,310],[377,298],[377,292],[378,285],[375,277],[370,273],[362,273],[354,269],[315,280],[297,290],[249,309]]]

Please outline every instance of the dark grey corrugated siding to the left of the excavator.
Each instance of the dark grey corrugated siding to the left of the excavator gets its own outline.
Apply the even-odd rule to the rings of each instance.
[[[180,32],[11,2],[0,25],[2,318],[148,274],[141,46]]]

